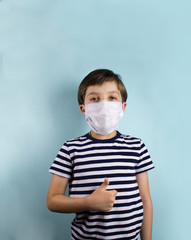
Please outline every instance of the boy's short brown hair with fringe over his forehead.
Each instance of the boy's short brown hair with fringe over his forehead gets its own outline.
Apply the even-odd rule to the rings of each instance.
[[[104,82],[114,81],[117,84],[117,88],[121,93],[122,102],[127,100],[127,90],[121,80],[120,75],[115,74],[108,69],[97,69],[90,72],[80,83],[78,88],[78,103],[84,104],[84,98],[89,86],[102,85]]]

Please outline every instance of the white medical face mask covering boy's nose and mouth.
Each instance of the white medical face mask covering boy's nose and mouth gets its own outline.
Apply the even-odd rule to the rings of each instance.
[[[85,105],[85,119],[91,130],[100,135],[108,135],[115,131],[122,117],[121,102],[103,100]]]

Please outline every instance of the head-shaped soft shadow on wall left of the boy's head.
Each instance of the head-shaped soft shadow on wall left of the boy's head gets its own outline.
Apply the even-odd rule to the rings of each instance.
[[[68,85],[68,86],[67,86]],[[86,123],[77,101],[77,87],[69,83],[54,91],[50,99],[54,130],[62,139],[69,140],[85,134]],[[62,143],[62,142],[61,142]]]

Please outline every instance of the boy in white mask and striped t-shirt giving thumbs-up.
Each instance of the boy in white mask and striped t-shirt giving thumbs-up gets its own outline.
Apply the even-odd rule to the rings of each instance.
[[[141,139],[116,131],[126,99],[119,75],[107,69],[89,73],[79,86],[80,110],[91,131],[62,146],[49,170],[47,194],[49,210],[76,213],[72,239],[137,240],[140,233],[151,240],[147,171],[154,166]]]

